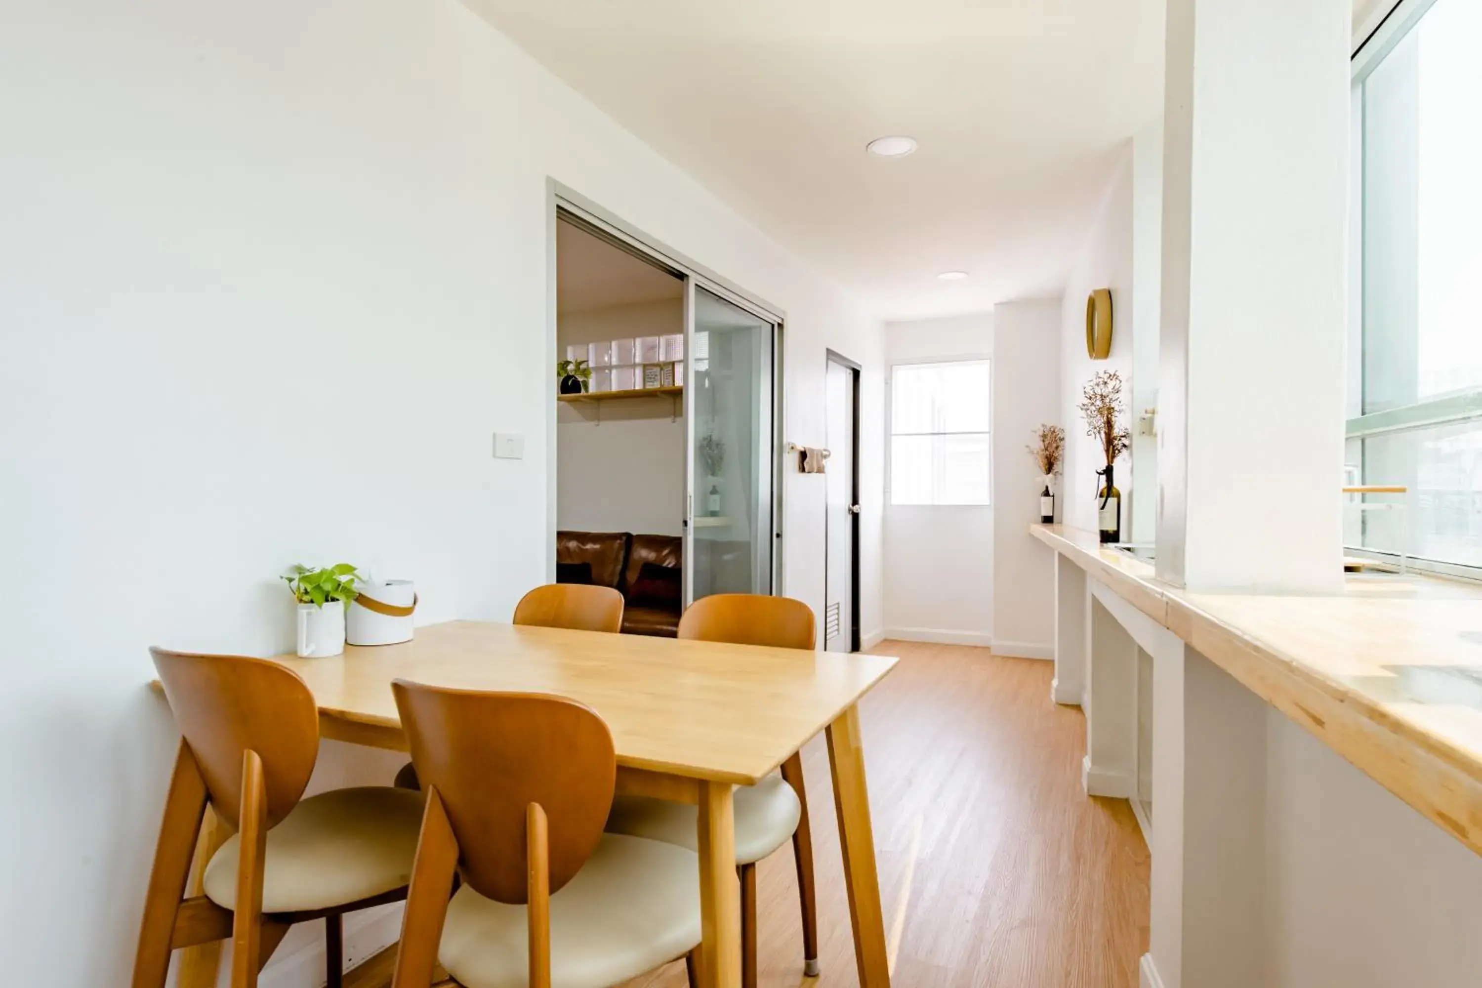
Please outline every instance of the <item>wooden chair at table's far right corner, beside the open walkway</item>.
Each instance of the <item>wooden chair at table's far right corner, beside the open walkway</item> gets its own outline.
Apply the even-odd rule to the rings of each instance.
[[[808,649],[817,644],[812,607],[788,597],[716,594],[691,604],[679,621],[679,637],[700,641],[729,641],[775,649]],[[619,797],[608,819],[618,834],[664,840],[695,847],[694,806],[652,797]],[[803,973],[818,975],[818,907],[814,892],[814,840],[808,825],[808,794],[803,790],[803,755],[794,752],[781,775],[735,791],[737,871],[741,877],[741,984],[754,988],[756,957],[756,862],[793,840],[797,890],[803,912]]]

